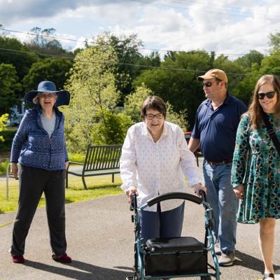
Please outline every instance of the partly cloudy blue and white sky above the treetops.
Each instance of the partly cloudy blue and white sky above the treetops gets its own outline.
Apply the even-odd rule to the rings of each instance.
[[[105,31],[137,34],[144,55],[199,49],[236,59],[250,50],[268,54],[279,15],[279,0],[0,0],[0,25],[18,31],[0,32],[26,41],[33,27],[54,28],[74,40],[59,40],[69,50]]]

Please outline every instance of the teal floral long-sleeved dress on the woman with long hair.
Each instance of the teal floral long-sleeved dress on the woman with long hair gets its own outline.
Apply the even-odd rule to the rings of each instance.
[[[280,119],[274,122],[274,131],[280,141]],[[251,130],[246,113],[237,130],[232,163],[232,186],[244,186],[237,222],[258,223],[260,218],[280,218],[280,157],[265,125]],[[248,158],[248,160],[247,160]]]

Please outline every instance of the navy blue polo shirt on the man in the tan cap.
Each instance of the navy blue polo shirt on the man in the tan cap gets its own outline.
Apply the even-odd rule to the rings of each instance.
[[[200,104],[192,137],[200,139],[206,160],[221,162],[232,159],[239,120],[246,111],[246,105],[230,94],[215,111],[210,99]]]

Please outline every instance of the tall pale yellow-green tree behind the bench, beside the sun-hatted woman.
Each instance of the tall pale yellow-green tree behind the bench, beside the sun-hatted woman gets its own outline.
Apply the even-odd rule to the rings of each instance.
[[[97,45],[76,55],[66,82],[71,102],[64,109],[70,151],[85,151],[87,144],[94,143],[94,123],[106,123],[104,110],[116,108],[120,98],[114,77],[117,62],[116,52],[103,36],[97,39]]]

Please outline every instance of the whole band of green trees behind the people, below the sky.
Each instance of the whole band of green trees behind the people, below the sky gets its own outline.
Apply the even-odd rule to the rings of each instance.
[[[229,92],[245,104],[260,76],[280,76],[279,32],[268,35],[269,55],[251,50],[234,60],[205,50],[142,55],[144,43],[137,34],[104,33],[83,50],[70,51],[55,38],[55,29],[34,27],[31,33],[25,43],[0,34],[0,116],[41,80],[52,80],[58,90],[71,92],[70,106],[63,109],[71,151],[81,151],[87,143],[122,143],[127,127],[140,120],[139,105],[148,94],[167,102],[169,120],[192,130],[204,100],[196,77],[209,69],[223,69]]]

